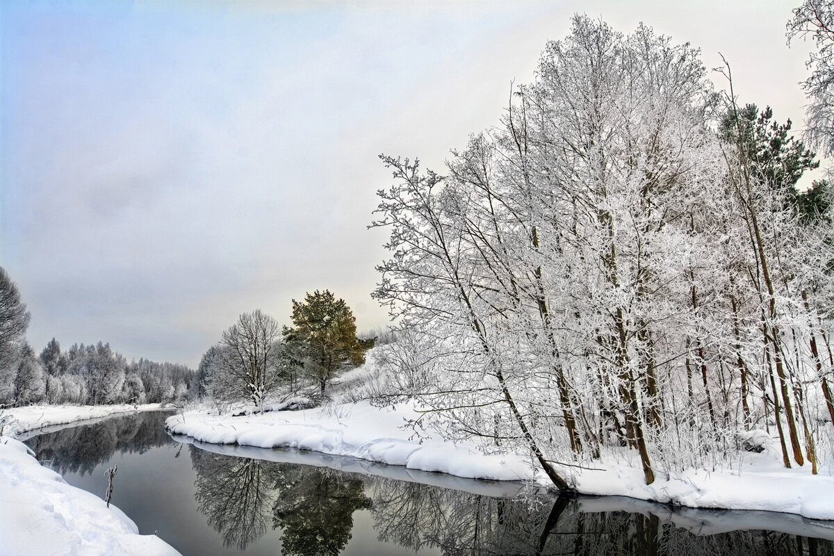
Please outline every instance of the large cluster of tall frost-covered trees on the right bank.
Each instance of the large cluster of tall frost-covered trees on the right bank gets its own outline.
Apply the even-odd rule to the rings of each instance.
[[[733,467],[771,434],[786,467],[830,461],[831,188],[797,188],[814,153],[723,73],[575,16],[443,175],[382,156],[384,397],[565,489],[630,454],[646,483]]]

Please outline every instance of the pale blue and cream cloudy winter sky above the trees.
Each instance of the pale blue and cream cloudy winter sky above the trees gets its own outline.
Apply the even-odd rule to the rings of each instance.
[[[290,324],[315,289],[384,327],[379,153],[443,173],[574,13],[723,53],[741,103],[801,130],[795,4],[3,0],[0,266],[28,341],[196,366],[240,313]]]

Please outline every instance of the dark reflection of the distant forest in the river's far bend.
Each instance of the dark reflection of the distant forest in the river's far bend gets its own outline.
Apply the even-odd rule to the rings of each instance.
[[[24,443],[38,461],[62,475],[93,473],[115,453],[145,453],[173,443],[163,423],[171,413],[153,411],[106,418],[97,423],[71,426],[29,438]]]

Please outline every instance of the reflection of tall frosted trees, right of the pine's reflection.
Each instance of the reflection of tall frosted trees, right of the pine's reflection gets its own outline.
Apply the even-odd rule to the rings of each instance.
[[[581,513],[566,498],[490,498],[371,480],[379,540],[413,550],[436,547],[445,556],[834,556],[834,544],[821,539],[758,531],[697,536],[654,513]]]

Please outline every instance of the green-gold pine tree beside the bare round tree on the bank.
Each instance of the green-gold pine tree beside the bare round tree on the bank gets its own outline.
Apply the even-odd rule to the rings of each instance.
[[[371,343],[356,338],[356,318],[344,299],[329,290],[293,299],[294,328],[284,328],[284,339],[294,360],[319,383],[324,392],[344,364],[361,365]]]

